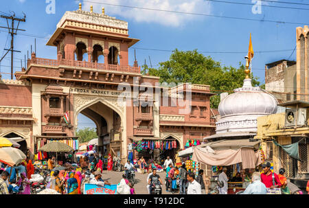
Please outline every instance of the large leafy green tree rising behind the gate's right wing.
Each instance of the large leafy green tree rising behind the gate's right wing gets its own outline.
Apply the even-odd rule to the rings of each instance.
[[[191,82],[192,84],[210,85],[211,92],[216,93],[211,97],[211,108],[218,108],[220,93],[233,93],[233,89],[241,87],[245,78],[244,65],[239,62],[239,67],[225,67],[210,56],[194,51],[179,51],[175,49],[170,60],[159,62],[159,68],[142,66],[142,72],[151,76],[159,76],[160,82]],[[259,86],[258,77],[252,78],[253,86]]]

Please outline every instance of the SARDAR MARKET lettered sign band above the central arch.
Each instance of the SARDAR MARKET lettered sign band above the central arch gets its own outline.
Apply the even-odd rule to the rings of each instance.
[[[82,88],[70,88],[70,93],[79,95],[103,95],[109,97],[117,97],[119,95],[129,96],[128,93],[123,91],[113,91],[106,89],[82,89]]]

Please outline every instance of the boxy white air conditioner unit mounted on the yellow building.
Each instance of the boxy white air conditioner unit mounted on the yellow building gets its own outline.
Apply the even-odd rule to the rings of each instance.
[[[306,108],[286,109],[285,126],[304,126],[307,121],[306,115]]]

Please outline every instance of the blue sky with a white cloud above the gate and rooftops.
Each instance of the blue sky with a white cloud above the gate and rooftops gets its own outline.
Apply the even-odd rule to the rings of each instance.
[[[52,0],[47,0],[52,1]],[[34,50],[34,37],[36,37],[37,56],[41,58],[56,59],[56,47],[46,46],[49,36],[56,30],[56,24],[67,10],[78,10],[80,1],[74,0],[54,0],[55,13],[47,14],[46,7],[49,3],[46,0],[11,0],[1,2],[0,12],[10,13],[14,11],[16,17],[23,17],[22,12],[27,15],[26,22],[21,23],[19,28],[26,30],[18,32],[14,38],[14,49],[22,51],[15,53],[14,71],[20,71],[21,60],[30,51],[30,45]],[[89,2],[92,1],[92,2]],[[282,3],[262,2],[261,14],[253,14],[252,5],[239,5],[231,3],[220,3],[216,1],[203,0],[89,0],[82,2],[82,10],[90,10],[93,5],[94,12],[101,12],[102,6],[105,14],[115,16],[128,22],[129,35],[141,41],[134,45],[137,48],[181,50],[198,49],[198,51],[227,52],[236,51],[244,53],[204,53],[218,60],[222,65],[238,67],[238,62],[244,63],[244,56],[247,54],[249,44],[249,34],[252,34],[254,51],[277,51],[266,53],[255,53],[253,59],[253,75],[260,78],[264,83],[264,66],[268,62],[276,60],[296,59],[296,52],[293,52],[296,44],[296,27],[304,27],[309,24],[309,5],[291,5]],[[222,0],[218,0],[222,1]],[[225,0],[239,3],[251,3],[251,0]],[[255,2],[256,0],[253,0]],[[95,3],[99,2],[99,3]],[[306,1],[293,0],[293,3],[306,3]],[[137,8],[126,8],[115,5],[103,5],[100,3],[111,3],[115,5],[128,5],[139,8],[156,8],[159,10],[173,10],[181,12],[203,13],[217,16],[233,16],[245,19],[258,19],[261,21],[247,21],[236,19],[225,19],[212,16],[201,16],[191,14],[176,14],[173,12],[159,12],[154,10],[142,10]],[[294,10],[286,8],[271,8],[271,6],[308,8],[308,10]],[[3,14],[3,13],[1,13]],[[270,23],[262,20],[293,22]],[[307,24],[307,25],[308,25]],[[6,27],[6,21],[0,19],[0,26]],[[23,34],[23,35],[22,35]],[[25,36],[25,34],[27,36]],[[10,36],[5,29],[0,28],[0,56],[10,45]],[[5,46],[6,43],[6,46]],[[139,65],[146,62],[157,67],[159,62],[168,60],[171,52],[136,49]],[[292,56],[290,56],[292,54]],[[2,57],[2,56],[1,56]],[[129,49],[129,64],[133,65],[134,49]],[[1,62],[2,73],[10,73],[10,54]],[[2,78],[8,79],[10,75],[2,74]],[[80,117],[80,127],[92,123],[89,119]],[[93,126],[92,124],[90,126]]]

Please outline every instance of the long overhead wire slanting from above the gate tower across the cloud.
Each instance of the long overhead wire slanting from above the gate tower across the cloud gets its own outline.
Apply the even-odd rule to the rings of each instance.
[[[78,1],[78,0],[75,0]],[[179,12],[179,11],[173,11],[173,10],[159,10],[155,8],[142,8],[142,7],[136,7],[136,6],[130,6],[130,5],[118,5],[118,4],[112,4],[112,3],[100,3],[95,1],[83,1],[88,3],[98,3],[103,5],[113,5],[113,6],[119,6],[124,8],[133,8],[133,9],[141,9],[141,10],[152,10],[152,11],[159,11],[159,12],[172,12],[175,14],[192,14],[192,15],[198,15],[198,16],[211,16],[211,17],[220,17],[225,19],[238,19],[238,20],[247,20],[247,21],[260,21],[260,22],[270,22],[270,23],[283,23],[283,24],[292,24],[292,25],[309,25],[309,23],[295,23],[295,22],[286,22],[286,21],[273,21],[273,20],[265,20],[265,19],[249,19],[249,18],[242,18],[242,17],[236,17],[236,16],[219,16],[214,14],[204,14],[204,13],[194,13],[194,12]]]

